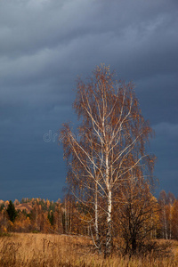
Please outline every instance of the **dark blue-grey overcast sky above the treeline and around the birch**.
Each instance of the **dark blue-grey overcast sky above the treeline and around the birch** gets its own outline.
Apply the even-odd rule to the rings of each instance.
[[[62,197],[57,133],[77,75],[134,81],[155,130],[158,191],[178,195],[178,1],[0,0],[0,199]]]

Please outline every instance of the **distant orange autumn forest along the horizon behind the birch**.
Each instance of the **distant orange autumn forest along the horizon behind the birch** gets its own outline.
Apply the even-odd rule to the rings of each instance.
[[[178,239],[178,198],[162,190],[156,214],[150,217],[154,239]],[[56,202],[41,198],[22,198],[21,201],[0,200],[0,232],[44,232],[91,235],[90,212],[86,206],[68,195]],[[115,218],[117,222],[117,217]],[[119,223],[118,223],[119,224]],[[119,225],[118,225],[119,229]],[[115,232],[117,235],[117,232]]]

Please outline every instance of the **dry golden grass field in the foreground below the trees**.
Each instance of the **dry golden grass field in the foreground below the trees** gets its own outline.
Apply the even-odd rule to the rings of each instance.
[[[166,242],[166,241],[159,241]],[[129,259],[118,253],[104,260],[94,254],[92,242],[87,238],[50,234],[14,233],[0,237],[0,266],[178,266],[178,242],[170,242],[169,255],[153,254]]]

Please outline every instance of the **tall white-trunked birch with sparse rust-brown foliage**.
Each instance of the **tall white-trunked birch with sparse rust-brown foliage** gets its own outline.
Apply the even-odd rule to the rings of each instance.
[[[105,65],[96,67],[86,82],[78,79],[73,108],[79,119],[77,131],[64,124],[60,134],[69,166],[67,182],[77,200],[88,206],[93,242],[108,256],[114,193],[126,174],[154,162],[145,151],[152,130],[142,117],[134,85],[117,81]],[[106,226],[102,240],[101,219]]]

